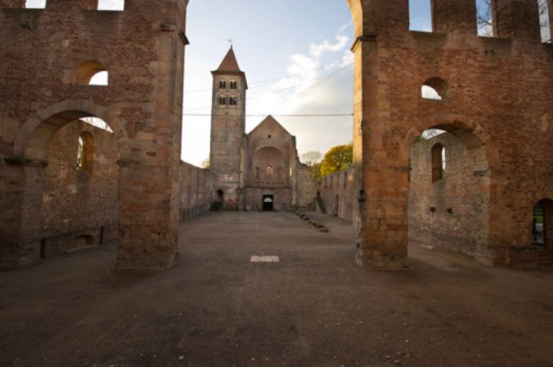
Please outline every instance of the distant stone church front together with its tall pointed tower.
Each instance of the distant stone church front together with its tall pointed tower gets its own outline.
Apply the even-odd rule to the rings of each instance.
[[[299,162],[296,138],[272,116],[245,133],[247,82],[232,48],[212,73],[210,170],[223,209],[261,210],[264,198],[277,211],[314,208],[318,186]]]

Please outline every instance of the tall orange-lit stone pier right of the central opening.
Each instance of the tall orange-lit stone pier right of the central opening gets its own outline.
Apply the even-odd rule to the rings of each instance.
[[[386,48],[408,35],[409,3],[366,0],[362,1],[362,8],[363,33],[357,35],[352,48],[355,260],[364,267],[403,269],[409,266],[406,220],[409,167],[402,167],[398,155],[400,135],[392,134],[390,89],[383,65],[389,55]],[[355,11],[353,17],[358,31]],[[409,162],[409,157],[406,161]]]

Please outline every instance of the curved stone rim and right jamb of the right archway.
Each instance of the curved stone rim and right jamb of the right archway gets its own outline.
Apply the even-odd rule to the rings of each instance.
[[[464,115],[455,114],[437,114],[420,117],[420,122],[413,126],[406,135],[402,147],[400,147],[400,157],[405,167],[410,167],[409,154],[413,142],[428,129],[440,129],[454,135],[469,151],[474,158],[473,176],[478,180],[478,190],[482,198],[482,212],[480,218],[480,233],[477,235],[476,260],[488,265],[498,265],[494,263],[498,258],[498,252],[508,252],[507,248],[497,248],[497,245],[503,243],[500,238],[500,231],[494,231],[494,228],[500,228],[501,218],[499,210],[494,207],[498,203],[498,197],[502,196],[504,187],[503,170],[501,169],[499,153],[490,136],[471,118]],[[409,169],[406,170],[407,172]],[[409,180],[402,180],[409,186]],[[405,187],[408,189],[408,187]],[[491,189],[493,188],[493,190]],[[404,220],[408,221],[408,210],[404,210]],[[505,225],[505,222],[503,222]],[[507,256],[501,254],[501,256]],[[500,257],[501,257],[500,256]],[[495,260],[494,260],[495,259]]]

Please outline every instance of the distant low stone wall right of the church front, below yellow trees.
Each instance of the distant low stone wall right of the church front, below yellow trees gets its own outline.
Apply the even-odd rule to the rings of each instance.
[[[353,219],[353,173],[347,169],[322,178],[321,199],[327,214]]]

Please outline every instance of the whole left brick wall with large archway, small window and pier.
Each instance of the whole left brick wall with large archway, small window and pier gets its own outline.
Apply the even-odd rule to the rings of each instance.
[[[119,270],[174,263],[187,0],[0,1],[0,267],[39,261],[48,143],[100,117],[120,152]],[[109,72],[108,86],[86,84]]]

